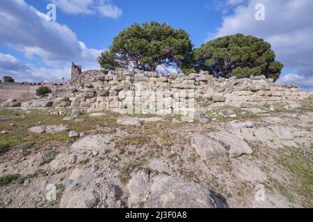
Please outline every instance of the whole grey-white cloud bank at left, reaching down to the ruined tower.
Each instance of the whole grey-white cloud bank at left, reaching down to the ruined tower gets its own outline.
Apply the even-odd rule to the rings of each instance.
[[[0,54],[1,74],[18,80],[42,80],[70,77],[70,62],[97,67],[102,49],[90,49],[67,26],[51,22],[47,15],[28,6],[24,0],[2,0],[0,8],[0,44],[24,53],[26,58],[40,56],[47,67],[24,65],[8,54]]]

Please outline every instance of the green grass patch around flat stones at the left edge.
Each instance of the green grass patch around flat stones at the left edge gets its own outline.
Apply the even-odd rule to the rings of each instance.
[[[63,113],[70,112],[70,110],[63,110]],[[19,115],[19,118],[15,116]],[[25,155],[28,149],[27,146],[32,144],[33,146],[41,146],[45,142],[56,141],[56,142],[74,142],[77,138],[69,138],[68,131],[75,130],[78,133],[94,130],[97,127],[112,127],[115,122],[115,116],[117,114],[111,114],[108,112],[104,117],[88,117],[88,114],[82,114],[79,118],[85,119],[84,122],[72,122],[63,121],[63,115],[50,114],[44,110],[29,110],[16,111],[16,110],[0,110],[0,117],[6,117],[1,119],[0,128],[6,131],[10,131],[8,134],[0,135],[0,155],[6,153],[10,148],[22,148]],[[10,126],[12,118],[17,126]],[[29,127],[40,126],[40,125],[69,125],[67,131],[59,133],[42,133],[35,134],[29,132]],[[29,147],[30,148],[30,147]]]

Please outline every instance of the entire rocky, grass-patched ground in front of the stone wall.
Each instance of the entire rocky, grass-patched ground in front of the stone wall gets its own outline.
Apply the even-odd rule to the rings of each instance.
[[[313,207],[313,105],[0,110],[0,207]]]

